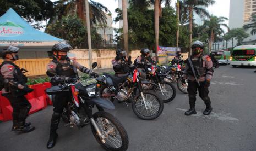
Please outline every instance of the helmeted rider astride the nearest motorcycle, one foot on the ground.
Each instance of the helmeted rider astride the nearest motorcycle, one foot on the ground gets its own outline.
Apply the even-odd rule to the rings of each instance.
[[[72,47],[66,41],[58,42],[52,47],[54,59],[47,65],[47,75],[51,77],[52,85],[71,82],[73,78],[78,77],[77,69],[87,74],[90,72],[90,69],[81,66],[75,60],[70,60],[67,57],[69,50],[72,50]],[[52,73],[57,75],[53,75]],[[97,74],[92,72],[91,75],[95,76]],[[56,130],[58,129],[59,120],[61,118],[64,107],[70,99],[72,99],[71,94],[67,92],[64,92],[63,94],[57,94],[53,99],[54,108],[51,119],[50,138],[47,142],[47,148],[52,148],[55,146],[58,137]]]

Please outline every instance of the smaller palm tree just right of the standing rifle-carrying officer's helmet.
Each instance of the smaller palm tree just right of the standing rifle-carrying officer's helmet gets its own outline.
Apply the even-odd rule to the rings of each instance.
[[[228,30],[227,24],[224,24],[224,22],[228,20],[225,17],[217,17],[217,16],[210,16],[209,20],[204,21],[204,25],[202,26],[203,32],[209,33],[209,51],[211,51],[212,44],[214,42],[214,39],[216,36],[219,36],[221,33],[224,33],[224,30],[222,30],[222,26],[226,27]]]

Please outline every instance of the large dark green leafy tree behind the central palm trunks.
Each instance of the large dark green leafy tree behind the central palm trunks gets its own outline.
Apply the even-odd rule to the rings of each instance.
[[[122,10],[116,9],[116,12],[118,15],[115,21],[121,21]],[[176,45],[176,23],[175,10],[171,7],[162,8],[162,16],[159,20],[159,45],[168,47]],[[148,10],[144,5],[141,6],[141,9],[139,5],[131,5],[128,9],[128,25],[129,48],[147,47],[154,49],[154,10]],[[116,32],[115,40],[122,43],[122,29],[116,30]],[[182,46],[187,44],[186,32],[186,28],[180,30]]]

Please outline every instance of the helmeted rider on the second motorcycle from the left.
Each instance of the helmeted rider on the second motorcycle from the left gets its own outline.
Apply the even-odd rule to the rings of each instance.
[[[113,69],[117,75],[117,77],[125,77],[129,73],[129,66],[131,64],[128,62],[126,57],[126,51],[123,49],[116,50],[116,57],[112,60]]]

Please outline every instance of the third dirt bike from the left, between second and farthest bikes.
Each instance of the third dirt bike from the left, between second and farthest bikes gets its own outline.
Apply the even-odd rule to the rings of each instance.
[[[176,96],[176,89],[170,83],[164,80],[167,73],[162,70],[159,66],[149,64],[149,68],[146,69],[148,73],[146,78],[156,85],[153,84],[143,84],[143,89],[154,90],[164,101],[164,103],[171,102]]]

